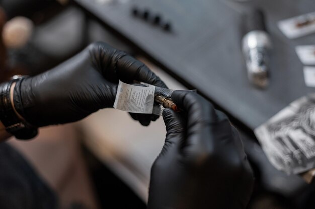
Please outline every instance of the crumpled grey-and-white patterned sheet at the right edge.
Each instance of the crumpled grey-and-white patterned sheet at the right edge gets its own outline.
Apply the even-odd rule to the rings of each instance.
[[[288,174],[315,167],[315,94],[302,97],[254,130],[269,161]]]

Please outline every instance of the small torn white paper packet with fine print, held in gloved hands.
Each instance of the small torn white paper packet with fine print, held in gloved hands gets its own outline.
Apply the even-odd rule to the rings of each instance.
[[[133,113],[152,114],[155,86],[134,86],[119,81],[114,108]]]

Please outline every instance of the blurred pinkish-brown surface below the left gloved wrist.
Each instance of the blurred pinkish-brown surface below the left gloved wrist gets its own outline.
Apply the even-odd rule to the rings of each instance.
[[[67,124],[41,128],[39,135],[32,140],[11,138],[9,143],[57,192],[61,208],[82,203],[87,208],[97,209],[99,207],[80,151],[79,138],[73,124]]]

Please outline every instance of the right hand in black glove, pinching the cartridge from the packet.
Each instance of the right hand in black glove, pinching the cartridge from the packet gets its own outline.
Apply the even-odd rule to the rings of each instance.
[[[172,100],[185,112],[163,112],[167,134],[152,166],[148,208],[245,208],[253,174],[237,130],[196,93],[175,91]]]

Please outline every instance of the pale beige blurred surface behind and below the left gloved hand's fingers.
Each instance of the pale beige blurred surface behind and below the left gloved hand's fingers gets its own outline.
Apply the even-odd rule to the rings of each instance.
[[[168,74],[144,61],[171,89],[185,89]],[[85,144],[138,196],[147,201],[151,166],[165,139],[162,117],[143,127],[128,113],[104,109],[80,122]]]

